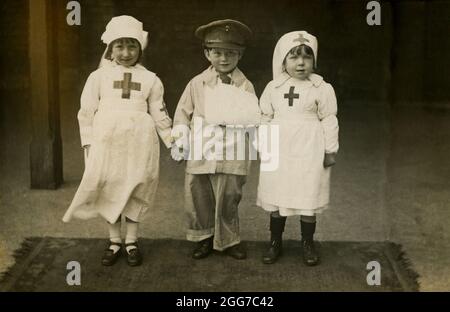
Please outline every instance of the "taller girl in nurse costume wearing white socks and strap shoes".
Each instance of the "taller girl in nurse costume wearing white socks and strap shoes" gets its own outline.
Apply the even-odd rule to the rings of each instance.
[[[147,45],[142,23],[131,16],[114,17],[102,41],[107,48],[87,79],[78,112],[86,168],[63,221],[104,218],[110,240],[102,264],[112,265],[122,250],[124,216],[127,261],[136,266],[142,262],[138,225],[158,184],[158,134],[170,147],[172,121],[161,80],[139,64]]]

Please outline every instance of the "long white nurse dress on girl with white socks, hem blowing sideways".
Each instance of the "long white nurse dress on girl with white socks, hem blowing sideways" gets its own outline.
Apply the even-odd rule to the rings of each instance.
[[[78,120],[82,146],[91,147],[64,222],[101,216],[113,223],[121,214],[140,221],[151,207],[159,175],[157,133],[170,146],[163,93],[160,79],[141,65],[107,62],[89,76]]]

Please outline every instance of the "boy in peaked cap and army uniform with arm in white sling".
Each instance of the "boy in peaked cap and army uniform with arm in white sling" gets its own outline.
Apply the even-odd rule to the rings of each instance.
[[[249,159],[222,159],[223,157],[219,157],[219,149],[205,157],[207,142],[202,141],[202,135],[199,136],[198,133],[204,134],[205,129],[212,126],[207,116],[208,109],[211,110],[218,101],[227,103],[241,99],[244,104],[248,103],[245,107],[257,106],[252,83],[237,68],[251,34],[246,25],[234,20],[214,21],[199,27],[195,32],[203,40],[204,54],[211,66],[186,86],[178,102],[172,132],[175,139],[180,135],[179,132],[175,133],[177,127],[185,127],[190,133],[189,143],[187,146],[183,145],[183,149],[179,149],[179,145],[173,145],[172,158],[176,161],[187,160],[187,239],[197,242],[192,254],[194,259],[207,257],[213,249],[224,251],[235,259],[247,257],[240,244],[238,205],[249,172]],[[214,93],[216,90],[222,90],[222,93]],[[214,94],[221,94],[220,99],[217,96],[214,98]],[[227,111],[226,107],[224,111]],[[236,118],[242,120],[243,115],[245,109],[236,114]],[[228,118],[233,119],[233,116]],[[214,127],[230,131],[228,124],[229,122],[219,123]],[[222,139],[223,137],[219,138]],[[197,151],[193,152],[195,148]],[[200,158],[195,156],[199,155],[199,150]]]

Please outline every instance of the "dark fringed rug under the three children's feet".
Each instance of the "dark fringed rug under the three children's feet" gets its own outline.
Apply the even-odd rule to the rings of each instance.
[[[283,257],[265,265],[264,242],[244,242],[248,259],[215,252],[191,258],[192,243],[142,239],[144,262],[129,267],[125,256],[112,267],[100,263],[106,240],[29,238],[15,254],[16,264],[0,281],[0,291],[417,291],[417,274],[401,246],[389,242],[321,242],[321,263],[307,267],[298,241],[284,242]],[[79,263],[81,285],[71,261]],[[374,275],[379,263],[379,279]],[[368,275],[369,282],[368,283]],[[377,284],[380,285],[369,285]]]

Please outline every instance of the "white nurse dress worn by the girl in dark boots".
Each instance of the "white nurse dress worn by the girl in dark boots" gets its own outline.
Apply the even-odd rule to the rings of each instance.
[[[279,153],[271,156],[278,168],[260,172],[257,205],[282,216],[321,212],[330,193],[324,155],[339,148],[333,87],[316,74],[305,81],[283,74],[266,86],[260,107],[263,121],[279,127]]]

